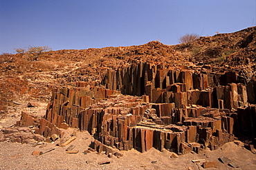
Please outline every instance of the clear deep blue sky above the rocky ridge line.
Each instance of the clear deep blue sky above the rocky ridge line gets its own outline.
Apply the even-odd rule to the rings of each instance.
[[[13,48],[118,47],[256,25],[256,0],[0,0],[0,54]]]

